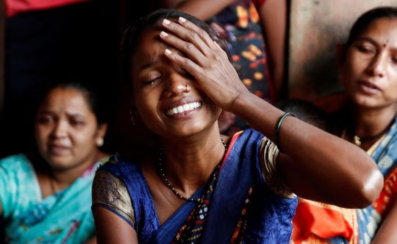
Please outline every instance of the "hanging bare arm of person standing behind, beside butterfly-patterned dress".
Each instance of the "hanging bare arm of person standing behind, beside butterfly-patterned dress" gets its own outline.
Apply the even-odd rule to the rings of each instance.
[[[258,11],[266,40],[270,77],[274,86],[276,99],[278,99],[284,79],[287,3],[286,0],[266,0]]]

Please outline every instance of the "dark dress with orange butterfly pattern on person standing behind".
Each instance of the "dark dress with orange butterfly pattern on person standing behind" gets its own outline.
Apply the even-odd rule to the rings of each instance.
[[[248,90],[273,103],[274,90],[269,79],[263,28],[254,3],[236,0],[210,21],[225,29],[232,64]],[[248,127],[247,122],[236,117],[227,133],[233,135]]]

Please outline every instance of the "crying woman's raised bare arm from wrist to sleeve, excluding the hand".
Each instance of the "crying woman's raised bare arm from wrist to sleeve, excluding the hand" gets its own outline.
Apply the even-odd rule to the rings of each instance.
[[[232,112],[275,141],[283,112],[259,99],[243,93]],[[279,154],[279,174],[297,195],[351,208],[378,197],[383,176],[361,148],[290,116],[281,124],[279,139],[285,152]]]

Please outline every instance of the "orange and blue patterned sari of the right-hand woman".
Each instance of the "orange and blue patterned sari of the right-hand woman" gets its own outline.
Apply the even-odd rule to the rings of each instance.
[[[305,243],[369,244],[397,197],[397,120],[371,153],[383,173],[379,197],[362,209],[346,209],[300,199],[293,218],[293,240]]]

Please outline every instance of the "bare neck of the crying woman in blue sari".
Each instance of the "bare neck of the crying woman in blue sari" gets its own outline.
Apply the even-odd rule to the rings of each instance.
[[[226,141],[226,138],[224,138]],[[181,193],[191,195],[204,185],[225,154],[219,128],[176,139],[163,139],[167,178]]]

